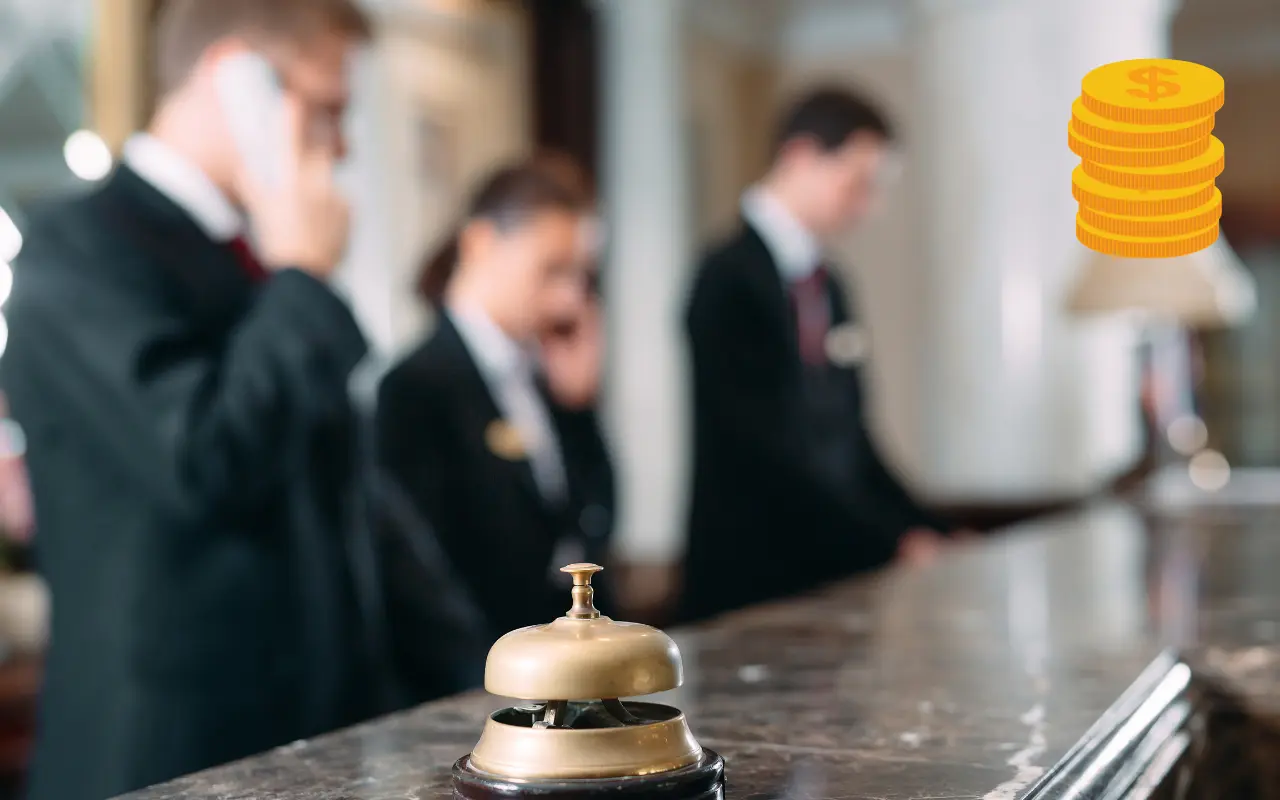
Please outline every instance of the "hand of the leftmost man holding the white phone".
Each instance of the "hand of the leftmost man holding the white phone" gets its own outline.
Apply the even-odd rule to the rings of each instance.
[[[257,256],[271,270],[297,268],[326,279],[347,248],[351,210],[334,183],[334,154],[306,136],[306,109],[285,96],[278,183],[242,165],[237,187],[256,233]]]

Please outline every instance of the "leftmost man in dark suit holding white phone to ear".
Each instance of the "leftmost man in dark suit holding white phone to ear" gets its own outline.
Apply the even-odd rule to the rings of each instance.
[[[328,285],[347,0],[169,0],[148,132],[32,216],[4,390],[28,435],[52,591],[31,796],[97,799],[369,713],[370,563],[351,534],[348,375]],[[219,95],[252,47],[285,87],[276,179]],[[246,236],[243,212],[252,225]]]

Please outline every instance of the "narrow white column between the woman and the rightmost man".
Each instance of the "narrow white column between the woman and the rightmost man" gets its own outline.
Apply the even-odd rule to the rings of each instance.
[[[680,0],[602,0],[602,163],[608,220],[605,425],[617,465],[618,550],[666,562],[684,547],[689,411],[681,308],[690,273]]]

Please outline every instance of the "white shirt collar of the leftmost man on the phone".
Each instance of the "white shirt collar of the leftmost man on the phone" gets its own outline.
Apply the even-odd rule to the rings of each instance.
[[[215,242],[241,236],[244,220],[227,195],[198,166],[154,136],[137,133],[124,143],[124,164],[187,212]]]

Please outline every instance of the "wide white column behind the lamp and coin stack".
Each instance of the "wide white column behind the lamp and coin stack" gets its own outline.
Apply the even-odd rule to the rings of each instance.
[[[1167,52],[1165,0],[916,0],[924,479],[965,500],[1100,486],[1140,447],[1135,332],[1062,311],[1084,256],[1066,146],[1103,63]]]

